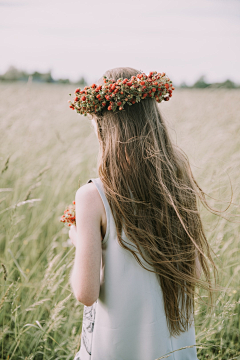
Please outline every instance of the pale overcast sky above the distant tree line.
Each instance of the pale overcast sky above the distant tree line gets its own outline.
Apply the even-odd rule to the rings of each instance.
[[[240,84],[240,0],[0,0],[0,19],[0,74],[94,82],[128,66]]]

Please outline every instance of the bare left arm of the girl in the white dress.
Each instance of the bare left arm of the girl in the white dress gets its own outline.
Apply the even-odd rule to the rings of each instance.
[[[99,297],[101,221],[104,206],[93,183],[83,185],[75,196],[76,227],[69,237],[76,246],[70,283],[76,299],[91,306]]]

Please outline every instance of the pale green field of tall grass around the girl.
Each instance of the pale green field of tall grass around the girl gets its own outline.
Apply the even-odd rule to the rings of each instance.
[[[59,218],[97,177],[98,143],[88,118],[68,108],[74,90],[0,84],[1,359],[73,359],[79,350],[83,305],[69,285],[74,247]],[[159,106],[209,204],[227,208],[233,191],[223,213],[231,222],[201,207],[222,290],[212,313],[196,304],[195,325],[200,360],[240,359],[240,90],[176,89]]]

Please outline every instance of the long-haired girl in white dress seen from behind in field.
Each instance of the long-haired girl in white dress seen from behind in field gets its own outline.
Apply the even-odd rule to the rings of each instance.
[[[109,70],[92,85],[95,97],[85,88],[70,106],[92,115],[100,146],[99,177],[77,190],[69,231],[76,247],[71,286],[84,304],[74,360],[197,359],[195,286],[211,298],[209,261],[215,267],[197,207],[206,200],[156,103],[174,88],[165,74],[156,82],[153,74]],[[114,96],[104,94],[117,89],[127,98],[123,109],[119,94],[113,111]]]

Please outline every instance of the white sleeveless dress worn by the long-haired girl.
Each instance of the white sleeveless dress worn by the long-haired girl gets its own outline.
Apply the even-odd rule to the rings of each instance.
[[[107,229],[100,294],[92,306],[84,305],[81,346],[73,360],[155,360],[164,355],[168,360],[197,360],[194,323],[180,336],[170,336],[156,274],[143,269],[119,245],[103,184],[100,178],[91,181],[102,198]],[[135,249],[124,232],[123,239]],[[192,347],[174,351],[188,346]]]

